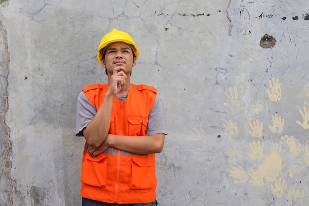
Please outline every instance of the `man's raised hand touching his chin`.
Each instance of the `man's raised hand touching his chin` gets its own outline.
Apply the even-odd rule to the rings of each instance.
[[[121,90],[121,87],[125,84],[125,80],[127,79],[127,76],[124,74],[123,70],[124,67],[116,67],[113,71],[113,75],[111,76],[109,90],[114,95]]]

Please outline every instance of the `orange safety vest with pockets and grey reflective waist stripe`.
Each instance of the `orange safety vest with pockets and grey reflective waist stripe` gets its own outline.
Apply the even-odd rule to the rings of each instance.
[[[107,84],[93,84],[82,89],[97,111],[107,90]],[[114,99],[109,133],[146,135],[155,96],[154,87],[132,84],[127,99]],[[140,155],[110,147],[92,157],[88,155],[87,148],[85,142],[80,177],[81,197],[118,204],[155,201],[155,154]]]

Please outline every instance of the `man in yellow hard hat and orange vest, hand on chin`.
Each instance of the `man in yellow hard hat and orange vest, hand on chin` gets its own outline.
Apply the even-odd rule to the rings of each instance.
[[[156,206],[155,153],[167,134],[161,98],[131,84],[139,50],[127,33],[106,34],[97,56],[108,84],[85,86],[77,98],[82,206]]]

